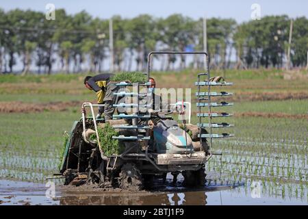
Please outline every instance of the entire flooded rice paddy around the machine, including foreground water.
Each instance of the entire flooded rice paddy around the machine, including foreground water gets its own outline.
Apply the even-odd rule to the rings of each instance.
[[[167,81],[164,75],[157,78],[157,85],[159,78]],[[72,188],[51,180],[53,198],[46,196],[50,185],[45,185],[58,171],[64,131],[81,117],[80,103],[95,96],[81,92],[82,77],[67,81],[68,90],[62,82],[55,82],[55,88],[43,82],[1,83],[0,205],[308,205],[308,81],[295,86],[294,81],[273,80],[256,79],[251,86],[247,79],[235,81],[231,91],[243,98],[234,99],[235,118],[227,122],[235,124],[236,137],[214,141],[212,151],[222,155],[206,164],[204,188],[183,188],[181,175],[177,185],[168,175],[166,185],[157,181],[134,193]],[[22,93],[8,94],[7,88]],[[194,116],[192,123],[197,123]]]

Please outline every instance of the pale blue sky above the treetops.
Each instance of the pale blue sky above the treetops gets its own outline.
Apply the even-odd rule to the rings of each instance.
[[[120,15],[132,18],[139,14],[166,17],[170,14],[183,14],[194,19],[203,16],[234,18],[239,23],[251,19],[251,5],[260,5],[261,16],[287,14],[292,18],[308,16],[307,0],[0,0],[0,8],[37,10],[46,12],[45,5],[53,3],[55,8],[64,8],[68,14],[86,10],[99,18]]]

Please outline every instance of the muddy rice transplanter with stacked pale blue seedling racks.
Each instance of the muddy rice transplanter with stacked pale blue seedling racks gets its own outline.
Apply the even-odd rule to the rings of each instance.
[[[151,52],[148,56],[148,79],[153,54],[205,55],[205,61],[208,62],[207,53],[203,52]],[[171,172],[174,181],[181,173],[184,177],[183,184],[187,187],[203,186],[206,176],[205,164],[212,156],[210,150],[212,140],[233,136],[212,132],[213,129],[233,125],[212,123],[214,118],[232,116],[227,113],[212,112],[212,107],[226,107],[232,103],[211,102],[211,97],[231,95],[228,92],[211,92],[211,86],[231,86],[232,83],[220,81],[220,78],[211,78],[209,70],[199,73],[197,77],[195,86],[198,90],[196,92],[198,123],[196,125],[186,124],[185,118],[183,123],[179,124],[169,116],[172,113],[185,113],[186,107],[189,107],[189,114],[191,114],[190,103],[183,101],[169,103],[169,106],[174,107],[167,107],[167,109],[159,107],[157,110],[153,107],[153,102],[144,104],[140,101],[153,95],[149,89],[151,83],[147,81],[144,83],[116,82],[118,89],[114,90],[114,95],[122,99],[129,97],[134,101],[133,103],[126,103],[126,101],[114,103],[118,114],[114,114],[112,120],[95,118],[94,107],[99,105],[83,103],[82,118],[73,124],[60,166],[60,175],[65,177],[65,184],[99,183],[101,187],[140,190],[155,178],[165,181],[166,174]],[[127,89],[129,87],[133,87],[134,92],[129,91]],[[86,108],[90,108],[90,116],[87,116]],[[129,114],[127,110],[123,110],[127,108],[133,109],[132,113]],[[144,108],[146,111],[142,111]],[[207,122],[203,123],[205,118]],[[107,125],[112,126],[118,133],[110,138],[117,140],[118,146],[123,147],[120,154],[105,155],[102,149],[98,130]],[[90,138],[91,135],[95,138]]]

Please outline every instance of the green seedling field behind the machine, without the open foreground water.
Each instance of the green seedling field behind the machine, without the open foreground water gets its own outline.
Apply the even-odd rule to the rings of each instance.
[[[222,72],[213,74],[223,75]],[[285,183],[293,183],[288,194],[303,198],[308,186],[308,99],[305,98],[308,79],[307,73],[294,80],[284,79],[283,74],[279,70],[225,73],[226,80],[235,83],[228,91],[246,97],[235,99],[234,107],[227,109],[239,116],[228,120],[235,124],[234,129],[222,131],[235,133],[236,137],[214,141],[212,151],[223,155],[221,163],[220,156],[214,156],[207,170],[221,171],[233,181],[260,179],[279,183],[281,194],[286,190]],[[196,91],[195,73],[154,73],[152,76],[157,80],[157,87],[192,88],[192,94]],[[84,88],[83,77],[1,75],[0,104],[95,101],[94,92]],[[251,101],[247,97],[266,96],[268,92],[274,100]],[[281,97],[281,93],[299,97]],[[192,111],[196,112],[195,106]],[[247,112],[252,116],[240,115]],[[254,113],[261,116],[253,116]],[[0,177],[42,182],[44,177],[57,172],[64,131],[70,131],[73,121],[80,117],[79,105],[63,112],[0,113]],[[196,116],[192,116],[192,123],[197,123]]]

